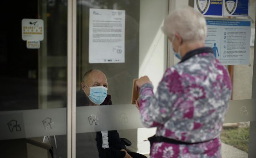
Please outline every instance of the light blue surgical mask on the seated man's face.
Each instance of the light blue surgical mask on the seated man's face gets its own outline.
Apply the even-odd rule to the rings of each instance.
[[[87,87],[89,87],[89,86],[87,86]],[[89,88],[90,88],[90,95],[88,96],[88,98],[94,104],[100,105],[101,103],[103,103],[108,95],[108,88],[106,88],[104,86],[96,86],[96,87],[89,87]]]

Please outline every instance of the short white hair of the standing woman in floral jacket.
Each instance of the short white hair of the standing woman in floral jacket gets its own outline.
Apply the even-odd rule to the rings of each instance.
[[[184,41],[204,40],[207,33],[206,20],[193,8],[186,7],[166,16],[162,30],[170,38],[177,32]]]

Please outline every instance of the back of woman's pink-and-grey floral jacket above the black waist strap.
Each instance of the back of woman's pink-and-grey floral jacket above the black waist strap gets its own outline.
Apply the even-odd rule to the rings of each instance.
[[[174,75],[179,78],[182,92],[173,105],[166,105],[174,109],[157,135],[185,142],[217,138],[231,95],[230,78],[225,66],[214,58],[214,54],[202,53],[170,68],[165,75],[170,80],[174,80]],[[173,86],[177,87],[177,84]]]

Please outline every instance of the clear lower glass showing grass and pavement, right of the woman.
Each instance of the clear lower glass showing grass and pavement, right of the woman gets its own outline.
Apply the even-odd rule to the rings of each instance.
[[[250,122],[223,124],[220,135],[223,158],[248,158]]]

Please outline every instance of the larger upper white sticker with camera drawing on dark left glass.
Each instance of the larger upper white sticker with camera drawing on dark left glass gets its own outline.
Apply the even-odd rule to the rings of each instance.
[[[42,19],[22,19],[22,40],[44,40],[44,21]]]

